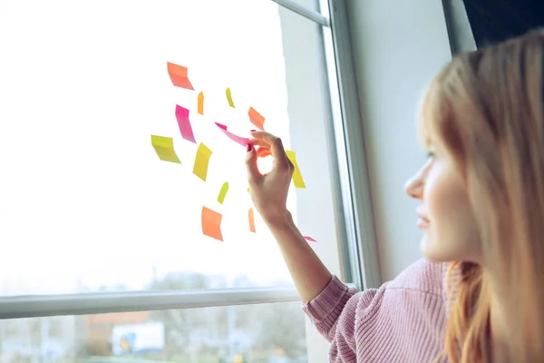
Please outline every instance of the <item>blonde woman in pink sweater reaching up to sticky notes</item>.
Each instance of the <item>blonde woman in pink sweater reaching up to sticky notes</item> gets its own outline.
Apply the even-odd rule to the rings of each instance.
[[[544,361],[543,68],[534,32],[461,54],[432,81],[418,120],[429,158],[405,186],[425,260],[380,289],[348,289],[316,257],[286,209],[281,140],[252,132],[253,201],[331,361]]]

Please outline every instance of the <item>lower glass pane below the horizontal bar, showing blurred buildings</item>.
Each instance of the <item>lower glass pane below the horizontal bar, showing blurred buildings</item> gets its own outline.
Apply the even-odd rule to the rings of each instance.
[[[300,303],[0,320],[5,363],[305,363]]]

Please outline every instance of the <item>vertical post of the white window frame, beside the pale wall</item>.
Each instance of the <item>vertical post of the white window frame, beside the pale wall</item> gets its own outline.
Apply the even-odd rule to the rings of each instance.
[[[329,133],[336,145],[337,212],[345,221],[338,223],[343,278],[360,290],[377,288],[382,276],[346,0],[319,2],[331,25],[330,32],[323,28],[323,37],[334,129]]]

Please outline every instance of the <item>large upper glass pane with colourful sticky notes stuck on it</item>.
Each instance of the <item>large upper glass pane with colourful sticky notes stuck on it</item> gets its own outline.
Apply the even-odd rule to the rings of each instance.
[[[315,156],[326,150],[320,29],[267,0],[3,1],[0,295],[290,284],[257,213],[249,228],[245,147],[215,123],[247,137],[249,108],[266,117],[308,185],[293,188],[290,211],[334,245],[330,169]],[[167,62],[188,67],[194,91],[173,86]],[[160,161],[151,135],[172,138],[181,163]],[[200,142],[206,182],[193,173]],[[319,206],[298,211],[300,198]],[[222,241],[203,235],[203,207],[222,215]]]

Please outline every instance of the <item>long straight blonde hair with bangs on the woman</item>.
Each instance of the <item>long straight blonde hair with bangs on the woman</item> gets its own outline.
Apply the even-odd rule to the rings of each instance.
[[[420,130],[458,163],[485,266],[450,268],[452,362],[491,361],[491,286],[505,313],[508,358],[544,361],[543,68],[544,31],[531,32],[456,56],[423,102]]]

